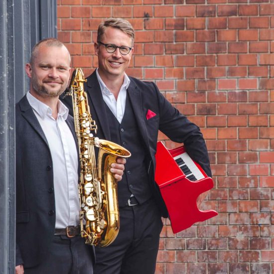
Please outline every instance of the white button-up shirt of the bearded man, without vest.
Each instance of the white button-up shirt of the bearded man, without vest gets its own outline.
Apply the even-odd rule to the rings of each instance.
[[[68,109],[58,101],[58,117],[55,120],[50,107],[29,92],[26,96],[46,136],[52,157],[55,228],[79,225],[78,155],[74,137],[65,122]]]

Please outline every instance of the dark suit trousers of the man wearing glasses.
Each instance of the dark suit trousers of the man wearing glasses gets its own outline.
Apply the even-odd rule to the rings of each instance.
[[[95,248],[95,274],[153,274],[162,230],[155,201],[120,207],[120,230],[108,247]]]

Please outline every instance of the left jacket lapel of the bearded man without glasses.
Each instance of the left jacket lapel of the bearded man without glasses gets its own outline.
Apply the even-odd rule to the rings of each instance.
[[[19,107],[21,110],[22,116],[26,119],[26,121],[32,126],[32,128],[37,132],[37,134],[45,141],[48,146],[47,139],[45,134],[31,108],[29,105],[26,95],[19,101]]]

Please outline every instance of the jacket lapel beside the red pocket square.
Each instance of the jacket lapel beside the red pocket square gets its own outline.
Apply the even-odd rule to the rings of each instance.
[[[131,100],[131,104],[136,117],[138,129],[144,140],[146,148],[149,150],[148,134],[146,130],[145,119],[143,116],[141,92],[133,81],[131,81],[130,86],[128,87],[127,95],[129,96]]]

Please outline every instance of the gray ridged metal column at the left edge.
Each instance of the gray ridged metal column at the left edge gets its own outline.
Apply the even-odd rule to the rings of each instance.
[[[56,37],[56,0],[0,1],[0,274],[15,268],[15,102],[28,90],[31,47]]]

